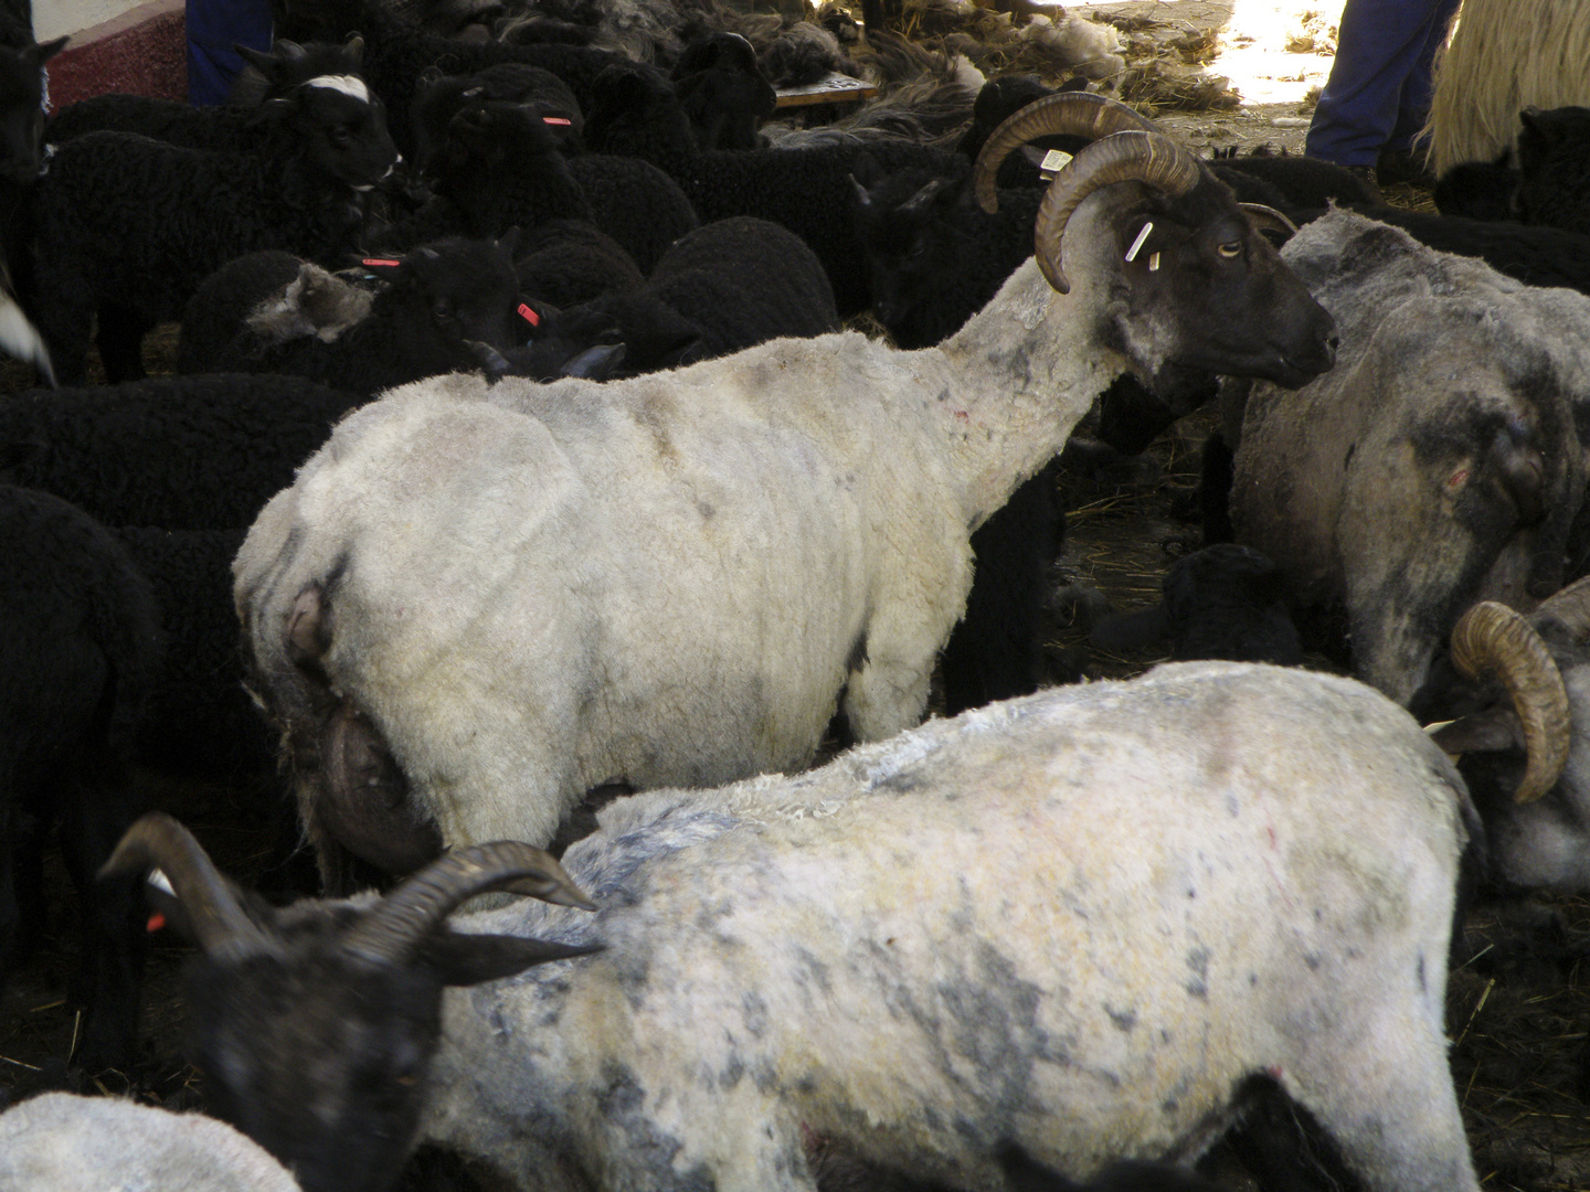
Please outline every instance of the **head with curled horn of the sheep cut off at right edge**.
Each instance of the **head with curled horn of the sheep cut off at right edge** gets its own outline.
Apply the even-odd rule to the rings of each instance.
[[[1431,736],[1461,755],[1496,880],[1590,888],[1590,580],[1528,617],[1471,607],[1409,710],[1456,717]]]

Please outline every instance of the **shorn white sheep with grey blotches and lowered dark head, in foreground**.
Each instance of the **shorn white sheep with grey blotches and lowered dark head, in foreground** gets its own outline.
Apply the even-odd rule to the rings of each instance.
[[[563,868],[472,846],[278,912],[149,819],[107,871],[170,880],[196,1057],[305,1192],[378,1192],[417,1133],[515,1189],[814,1189],[822,1149],[992,1190],[1008,1144],[1191,1163],[1270,1081],[1374,1192],[1474,1192],[1442,1028],[1471,822],[1377,693],[1196,663],[620,799]],[[509,882],[561,908],[448,925]]]

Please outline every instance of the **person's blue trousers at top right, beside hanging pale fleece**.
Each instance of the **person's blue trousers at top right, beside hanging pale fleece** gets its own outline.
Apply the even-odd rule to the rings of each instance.
[[[1347,0],[1304,153],[1337,165],[1374,165],[1382,149],[1412,146],[1429,114],[1429,64],[1456,6],[1458,0]]]

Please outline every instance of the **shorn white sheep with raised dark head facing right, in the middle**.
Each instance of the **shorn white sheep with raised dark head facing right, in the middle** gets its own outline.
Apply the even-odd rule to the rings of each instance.
[[[1094,99],[1029,108],[987,159],[1035,132],[1108,130],[1076,106]],[[1329,318],[1229,192],[1137,119],[1078,154],[1038,261],[938,348],[841,334],[606,386],[455,375],[345,420],[235,566],[254,690],[297,755],[355,733],[391,760],[402,823],[450,846],[544,842],[595,787],[805,764],[841,688],[862,741],[916,723],[968,534],[1115,377],[1299,385],[1331,364]],[[1148,181],[1113,186],[1134,168]],[[1167,238],[1123,261],[1150,221]],[[469,458],[474,478],[437,458]],[[353,505],[358,526],[337,513]],[[326,865],[363,847],[324,830],[370,798],[347,779],[297,774]]]

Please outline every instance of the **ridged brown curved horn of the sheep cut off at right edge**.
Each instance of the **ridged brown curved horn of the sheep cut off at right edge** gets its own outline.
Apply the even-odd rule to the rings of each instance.
[[[1469,679],[1495,671],[1507,688],[1530,758],[1514,798],[1541,798],[1568,764],[1571,733],[1563,675],[1541,634],[1506,604],[1480,601],[1452,631],[1452,663]]]

